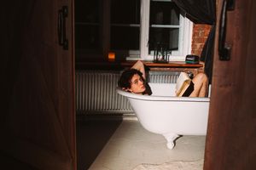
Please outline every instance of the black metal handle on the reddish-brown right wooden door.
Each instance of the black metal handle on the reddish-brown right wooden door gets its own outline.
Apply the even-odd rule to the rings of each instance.
[[[235,0],[224,0],[219,20],[218,56],[220,60],[230,60],[231,45],[225,42],[227,11],[234,10]]]

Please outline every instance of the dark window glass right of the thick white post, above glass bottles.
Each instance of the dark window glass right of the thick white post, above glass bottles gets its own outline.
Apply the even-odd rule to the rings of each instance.
[[[151,1],[149,20],[149,54],[153,54],[157,44],[167,50],[177,50],[179,9],[176,4],[171,1]]]

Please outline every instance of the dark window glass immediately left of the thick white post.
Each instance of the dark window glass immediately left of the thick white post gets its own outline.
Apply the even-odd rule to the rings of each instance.
[[[111,50],[139,50],[140,0],[111,1]]]

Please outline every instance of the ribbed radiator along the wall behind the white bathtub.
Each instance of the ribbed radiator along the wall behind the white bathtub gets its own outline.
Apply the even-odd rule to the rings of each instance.
[[[76,71],[77,114],[132,113],[128,99],[116,93],[119,71]],[[178,72],[149,71],[148,82],[176,82]]]

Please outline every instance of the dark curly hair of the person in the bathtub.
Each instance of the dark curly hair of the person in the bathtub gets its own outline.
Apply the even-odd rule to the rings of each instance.
[[[138,71],[136,69],[129,69],[123,71],[123,73],[121,74],[118,82],[119,88],[131,88],[131,78],[135,74],[139,75],[142,78],[143,82],[145,82],[143,78],[143,73],[141,71]]]

